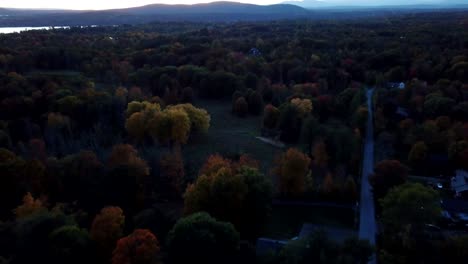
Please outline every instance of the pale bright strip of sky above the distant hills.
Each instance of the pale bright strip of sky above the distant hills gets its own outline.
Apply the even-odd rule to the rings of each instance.
[[[111,8],[125,8],[142,6],[153,3],[163,4],[195,4],[207,3],[214,0],[0,0],[0,7],[13,8],[46,8],[46,9],[77,9],[77,10],[99,10]],[[277,4],[285,0],[231,0],[235,2],[252,3],[259,5]],[[304,1],[304,0],[289,0]],[[305,0],[310,1],[310,0]],[[379,4],[401,4],[401,3],[440,3],[444,1],[461,0],[318,0],[328,4],[338,5],[379,5]],[[468,1],[468,0],[466,0]]]

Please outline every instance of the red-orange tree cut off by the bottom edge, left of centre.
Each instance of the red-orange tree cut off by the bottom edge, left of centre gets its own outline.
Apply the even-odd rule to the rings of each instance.
[[[150,264],[159,253],[159,241],[148,229],[136,229],[119,239],[112,264]]]

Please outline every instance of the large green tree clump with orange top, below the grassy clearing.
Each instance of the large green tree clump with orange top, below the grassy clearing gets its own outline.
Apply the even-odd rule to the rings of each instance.
[[[272,197],[271,183],[258,169],[258,162],[243,155],[232,161],[210,156],[195,183],[184,194],[186,214],[205,211],[255,234],[263,225]],[[252,215],[256,215],[252,219]],[[250,230],[253,229],[253,230]]]

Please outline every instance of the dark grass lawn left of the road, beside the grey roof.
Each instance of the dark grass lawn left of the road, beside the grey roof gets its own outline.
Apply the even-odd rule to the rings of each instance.
[[[275,205],[263,236],[291,239],[299,234],[304,223],[353,229],[354,211],[318,206]]]

